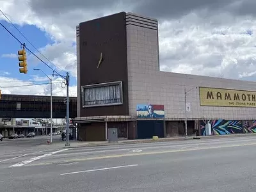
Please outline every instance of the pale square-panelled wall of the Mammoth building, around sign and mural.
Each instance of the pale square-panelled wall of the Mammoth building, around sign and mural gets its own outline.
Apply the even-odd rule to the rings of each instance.
[[[130,15],[130,16],[129,16]],[[131,13],[127,13],[127,18]],[[136,116],[137,104],[163,104],[169,120],[185,118],[184,88],[196,86],[256,91],[256,83],[159,71],[157,20],[133,15],[127,19],[129,114]],[[140,20],[143,20],[143,24]],[[134,21],[134,22],[133,22]],[[139,22],[140,21],[140,22]],[[145,24],[147,23],[147,24]],[[188,119],[253,120],[256,108],[200,106],[199,90],[186,96],[191,102]]]

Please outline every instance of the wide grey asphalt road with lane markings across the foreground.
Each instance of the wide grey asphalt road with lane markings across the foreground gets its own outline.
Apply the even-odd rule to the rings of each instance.
[[[255,191],[256,137],[42,150],[0,145],[0,191]],[[23,146],[23,147],[22,147]],[[3,148],[10,148],[13,151]]]

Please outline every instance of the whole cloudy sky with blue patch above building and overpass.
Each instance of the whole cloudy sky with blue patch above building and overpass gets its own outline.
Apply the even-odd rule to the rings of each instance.
[[[255,0],[0,0],[0,4],[33,45],[0,13],[6,28],[60,74],[70,72],[71,95],[76,95],[76,25],[122,11],[159,20],[161,70],[256,80]],[[20,44],[3,28],[0,40],[2,93],[49,95],[49,84],[42,84],[47,77],[33,68],[49,76],[52,70],[28,54],[29,72],[20,74]],[[54,95],[65,95],[61,81],[54,76]],[[42,85],[31,85],[38,83]]]

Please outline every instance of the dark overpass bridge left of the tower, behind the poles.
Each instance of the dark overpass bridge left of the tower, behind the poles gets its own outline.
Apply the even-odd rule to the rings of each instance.
[[[67,111],[65,98],[52,96],[52,118],[65,118]],[[75,118],[77,97],[70,97],[69,101],[70,118]],[[0,118],[51,118],[51,97],[2,94]]]

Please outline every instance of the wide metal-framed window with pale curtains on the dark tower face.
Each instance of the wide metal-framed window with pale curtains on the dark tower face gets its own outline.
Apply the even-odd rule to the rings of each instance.
[[[82,86],[83,108],[123,104],[122,81]]]

